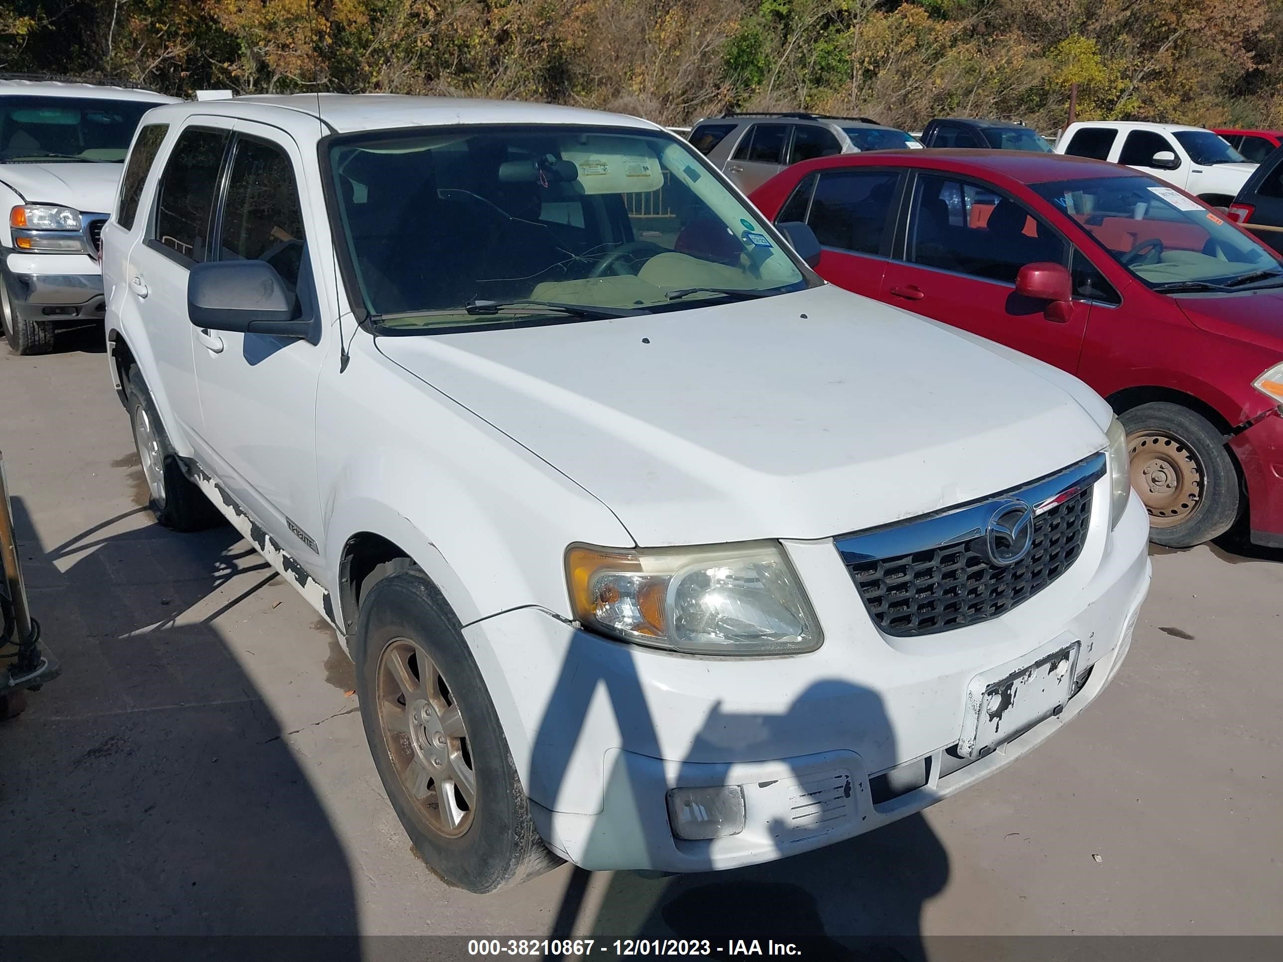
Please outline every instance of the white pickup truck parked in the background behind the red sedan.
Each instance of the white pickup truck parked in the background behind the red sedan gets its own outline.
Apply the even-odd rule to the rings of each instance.
[[[1233,203],[1256,169],[1219,135],[1178,123],[1071,123],[1056,153],[1134,167],[1220,208]]]

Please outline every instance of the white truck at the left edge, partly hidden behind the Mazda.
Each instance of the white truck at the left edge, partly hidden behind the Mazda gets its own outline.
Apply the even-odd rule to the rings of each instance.
[[[18,354],[103,319],[99,232],[142,117],[173,97],[0,80],[0,321]]]

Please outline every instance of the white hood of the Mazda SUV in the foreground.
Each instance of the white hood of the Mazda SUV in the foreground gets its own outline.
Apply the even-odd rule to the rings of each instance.
[[[831,286],[377,346],[648,546],[826,537],[994,494],[1105,446],[1101,413],[1083,407],[1103,404],[1074,378],[1053,382],[1037,362]]]

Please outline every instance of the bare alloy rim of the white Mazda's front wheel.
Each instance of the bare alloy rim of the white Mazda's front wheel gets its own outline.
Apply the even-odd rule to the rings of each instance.
[[[463,713],[422,645],[393,639],[378,657],[378,727],[402,786],[439,835],[472,827],[477,779]]]

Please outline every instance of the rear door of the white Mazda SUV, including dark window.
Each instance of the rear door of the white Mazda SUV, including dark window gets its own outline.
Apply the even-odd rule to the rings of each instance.
[[[192,118],[178,132],[157,182],[142,240],[130,249],[124,272],[123,296],[146,328],[159,390],[172,418],[167,427],[185,437],[205,463],[209,451],[191,358],[187,273],[209,257],[214,192],[230,141],[230,121],[217,117]]]

